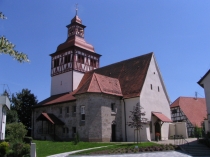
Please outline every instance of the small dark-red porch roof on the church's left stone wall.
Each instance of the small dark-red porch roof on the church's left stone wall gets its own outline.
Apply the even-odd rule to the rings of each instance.
[[[54,114],[52,113],[42,113],[36,120],[47,120],[52,124],[56,125],[64,125],[65,123],[62,122],[60,119],[58,119]]]

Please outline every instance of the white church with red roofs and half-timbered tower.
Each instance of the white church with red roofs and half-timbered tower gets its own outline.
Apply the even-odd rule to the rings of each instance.
[[[90,142],[136,141],[130,111],[146,113],[141,141],[169,136],[170,100],[153,52],[99,67],[101,55],[84,39],[76,16],[51,56],[51,95],[32,108],[32,137]]]

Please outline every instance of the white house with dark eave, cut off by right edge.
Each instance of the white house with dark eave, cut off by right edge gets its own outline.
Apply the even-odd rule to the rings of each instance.
[[[198,81],[198,84],[204,88],[205,98],[206,98],[206,107],[207,107],[207,123],[206,131],[210,132],[210,70]]]

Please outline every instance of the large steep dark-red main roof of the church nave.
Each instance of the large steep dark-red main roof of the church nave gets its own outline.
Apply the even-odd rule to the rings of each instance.
[[[153,53],[148,53],[139,57],[111,64],[102,68],[95,69],[93,71],[89,71],[83,76],[76,94],[87,91],[93,75],[100,74],[101,78],[107,77],[109,79],[118,79],[124,98],[140,96],[152,56]],[[102,85],[102,81],[100,81],[99,84]],[[94,90],[99,90],[97,89],[97,87],[94,88]],[[112,90],[112,87],[109,86],[109,88],[110,90]]]

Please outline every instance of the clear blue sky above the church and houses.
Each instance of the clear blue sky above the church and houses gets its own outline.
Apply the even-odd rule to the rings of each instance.
[[[197,81],[210,68],[210,1],[2,0],[0,35],[28,54],[20,64],[0,55],[0,92],[28,88],[39,101],[50,96],[50,56],[67,38],[75,4],[85,40],[102,55],[100,66],[154,52],[171,102],[204,97]]]

